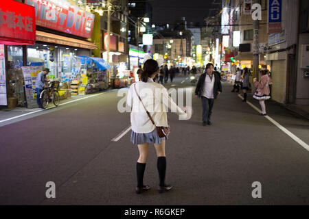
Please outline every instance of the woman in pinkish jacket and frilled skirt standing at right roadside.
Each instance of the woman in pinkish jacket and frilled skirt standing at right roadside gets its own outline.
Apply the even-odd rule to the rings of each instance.
[[[268,70],[261,70],[261,75],[262,77],[260,81],[257,81],[256,78],[253,79],[255,88],[258,88],[253,94],[253,98],[257,99],[262,107],[262,114],[259,115],[267,116],[265,100],[271,99],[271,96],[269,96],[269,94],[271,93],[271,90],[269,89],[269,84],[272,83],[272,81],[271,77],[268,77]]]

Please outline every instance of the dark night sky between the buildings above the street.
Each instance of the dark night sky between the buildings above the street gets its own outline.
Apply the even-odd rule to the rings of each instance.
[[[148,0],[152,4],[154,23],[174,23],[185,17],[187,24],[199,22],[205,25],[204,18],[213,0]]]

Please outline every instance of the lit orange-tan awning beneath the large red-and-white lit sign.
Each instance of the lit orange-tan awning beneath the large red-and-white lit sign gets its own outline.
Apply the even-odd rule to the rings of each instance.
[[[84,49],[98,49],[98,47],[93,42],[77,40],[56,34],[49,34],[43,31],[36,31],[36,41],[62,44],[69,47],[78,47]]]

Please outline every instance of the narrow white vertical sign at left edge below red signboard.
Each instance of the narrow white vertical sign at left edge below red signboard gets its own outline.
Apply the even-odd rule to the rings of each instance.
[[[8,105],[5,79],[4,45],[0,44],[0,105]]]

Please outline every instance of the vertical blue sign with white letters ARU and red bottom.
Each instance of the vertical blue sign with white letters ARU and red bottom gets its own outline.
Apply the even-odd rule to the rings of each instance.
[[[282,0],[269,0],[268,3],[268,34],[281,33]]]

